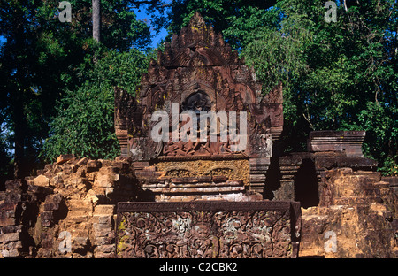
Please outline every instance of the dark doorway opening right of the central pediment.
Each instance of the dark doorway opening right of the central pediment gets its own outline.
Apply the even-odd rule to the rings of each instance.
[[[299,201],[303,208],[318,206],[317,171],[310,158],[303,159],[300,169],[295,173],[295,201]]]

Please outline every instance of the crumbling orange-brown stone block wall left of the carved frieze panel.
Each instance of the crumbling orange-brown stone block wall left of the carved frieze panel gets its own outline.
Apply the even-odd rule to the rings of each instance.
[[[70,155],[0,191],[1,257],[114,257],[115,203],[136,200],[131,164]]]

